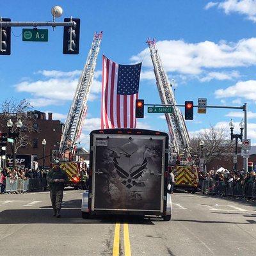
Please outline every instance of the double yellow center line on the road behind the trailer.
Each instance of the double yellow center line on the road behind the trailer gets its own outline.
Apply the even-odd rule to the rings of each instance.
[[[113,243],[113,256],[119,256],[120,249],[120,223],[116,223]],[[124,255],[131,256],[131,244],[128,224],[124,223]]]

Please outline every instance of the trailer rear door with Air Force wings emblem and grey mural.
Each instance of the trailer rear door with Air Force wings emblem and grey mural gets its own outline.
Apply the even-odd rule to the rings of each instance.
[[[92,136],[92,211],[163,212],[166,136]]]

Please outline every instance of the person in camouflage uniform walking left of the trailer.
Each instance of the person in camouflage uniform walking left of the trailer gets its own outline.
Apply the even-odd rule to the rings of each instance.
[[[47,181],[50,188],[53,216],[60,218],[60,209],[63,198],[65,183],[68,182],[67,173],[60,168],[60,161],[55,160],[52,170],[47,175]]]

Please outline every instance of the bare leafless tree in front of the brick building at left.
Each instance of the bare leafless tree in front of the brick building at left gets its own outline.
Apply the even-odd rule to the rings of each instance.
[[[33,128],[33,121],[35,120],[32,115],[29,115],[29,111],[32,110],[31,104],[26,99],[20,101],[14,99],[4,100],[1,104],[2,115],[1,115],[1,126],[6,129],[6,124],[9,119],[13,122],[13,127],[11,132],[18,132],[19,137],[16,140],[14,151],[17,153],[20,147],[26,147],[31,145],[31,140],[29,139],[29,132],[35,132]],[[22,127],[18,129],[17,122],[21,120]]]

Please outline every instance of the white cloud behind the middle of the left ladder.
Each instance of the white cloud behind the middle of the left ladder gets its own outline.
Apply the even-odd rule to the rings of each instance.
[[[71,72],[42,70],[39,72],[47,77],[47,80],[22,81],[15,84],[17,92],[26,92],[33,96],[33,99],[30,99],[33,106],[60,105],[67,100],[73,100],[78,83],[76,74],[78,74],[79,70]],[[99,77],[98,71],[97,77]],[[100,92],[101,83],[95,78],[93,79],[88,100],[98,99]]]

